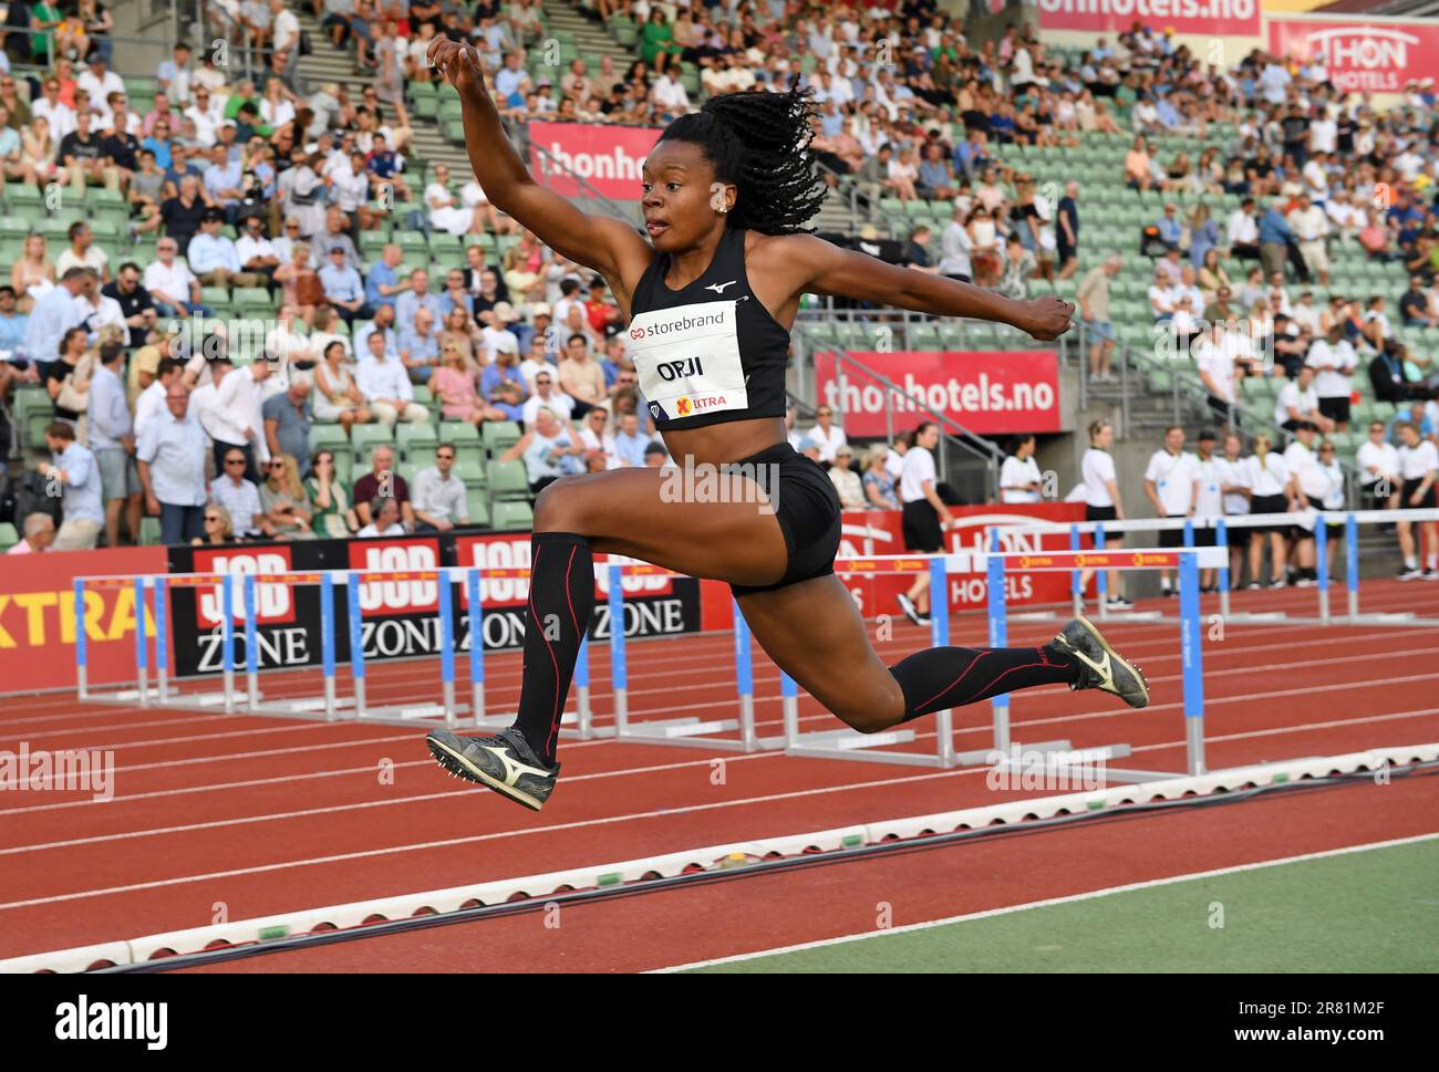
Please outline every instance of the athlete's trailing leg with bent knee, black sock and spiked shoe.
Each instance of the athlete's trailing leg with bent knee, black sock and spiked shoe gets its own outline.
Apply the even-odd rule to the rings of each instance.
[[[1040,648],[930,648],[886,668],[835,576],[750,593],[740,609],[770,658],[861,732],[1036,685],[1102,688],[1132,707],[1148,702],[1140,672],[1082,617]]]

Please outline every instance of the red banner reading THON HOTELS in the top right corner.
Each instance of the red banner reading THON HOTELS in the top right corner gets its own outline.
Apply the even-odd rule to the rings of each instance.
[[[1404,82],[1439,75],[1439,24],[1384,19],[1269,19],[1269,49],[1309,62],[1324,56],[1344,92],[1402,94]]]

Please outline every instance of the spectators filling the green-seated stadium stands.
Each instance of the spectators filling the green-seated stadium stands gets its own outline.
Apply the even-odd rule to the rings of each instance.
[[[425,181],[407,168],[409,104],[414,83],[435,79],[425,65],[435,35],[476,43],[496,104],[517,122],[663,124],[707,95],[783,91],[800,78],[819,104],[810,148],[825,181],[853,183],[871,206],[953,204],[938,236],[917,226],[896,259],[1012,296],[1075,276],[1086,245],[1079,183],[1046,191],[1052,177],[1016,167],[1012,148],[1132,135],[1115,181],[1176,201],[1156,201],[1158,217],[1134,235],[1143,252],[1128,256],[1154,259],[1154,321],[1193,355],[1216,417],[1236,423],[1245,376],[1276,376],[1285,386],[1275,423],[1297,442],[1309,426],[1315,436],[1343,432],[1364,364],[1377,399],[1413,404],[1412,429],[1380,426],[1383,446],[1402,452],[1410,430],[1412,450],[1435,442],[1439,377],[1427,354],[1399,341],[1390,311],[1403,325],[1439,328],[1439,127],[1427,79],[1380,112],[1335,91],[1318,60],[1256,50],[1220,69],[1138,24],[1084,55],[1055,56],[1025,26],[971,47],[932,3],[784,0],[596,0],[597,20],[630,24],[636,59],[619,69],[606,58],[594,71],[576,59],[535,78],[527,49],[544,46],[537,0],[314,0],[328,35],[318,45],[302,40],[282,0],[224,0],[207,17],[252,62],[226,65],[178,43],[140,114],[109,69],[102,4],[7,12],[7,24],[26,32],[7,35],[0,60],[6,180],[60,190],[62,201],[66,188],[114,191],[125,237],[147,250],[112,258],[76,222],[59,250],[29,235],[0,286],[0,396],[43,384],[53,404],[40,475],[63,488],[50,518],[56,547],[137,540],[145,514],[160,517],[165,542],[468,521],[455,443],[436,446],[413,486],[394,472],[393,448],[377,446],[371,472],[345,486],[334,449],[311,449],[317,423],[347,436],[436,416],[514,423],[519,439],[496,458],[521,462],[532,491],[571,472],[665,463],[603,279],[519,229],[473,180],[439,165]],[[301,55],[317,46],[353,52],[357,73],[373,78],[304,83]],[[22,73],[33,60],[49,66]],[[694,98],[682,65],[698,71]],[[1151,137],[1206,138],[1217,124],[1235,135],[1193,160],[1150,150]],[[1245,200],[1226,220],[1203,203],[1180,213],[1179,194],[1187,204],[1215,193]],[[453,260],[407,265],[399,243],[363,258],[361,236],[386,219],[458,239]],[[1402,262],[1407,288],[1330,289],[1347,286],[1330,275],[1338,243]],[[1078,282],[1101,381],[1115,347],[1109,286],[1125,259],[1114,253]],[[1314,299],[1314,282],[1327,302]],[[216,324],[212,295],[253,305]],[[256,324],[256,345],[230,338]],[[846,507],[896,504],[905,445],[856,460],[835,416],[820,406],[816,426],[791,442],[832,466]],[[1269,446],[1275,456],[1289,449]],[[1314,453],[1322,450],[1321,439]],[[1390,473],[1371,462],[1353,462],[1366,485]],[[1387,455],[1383,465],[1393,466]],[[1423,481],[1432,496],[1433,473]],[[1314,498],[1317,482],[1307,488]],[[32,522],[22,522],[29,537]]]

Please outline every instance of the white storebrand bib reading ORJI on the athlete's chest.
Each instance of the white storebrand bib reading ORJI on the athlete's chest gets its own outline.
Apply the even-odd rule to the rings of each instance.
[[[748,409],[737,304],[695,302],[630,321],[629,355],[655,420]]]

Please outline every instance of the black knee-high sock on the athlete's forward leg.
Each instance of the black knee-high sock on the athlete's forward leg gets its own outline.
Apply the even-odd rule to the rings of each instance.
[[[594,610],[594,558],[589,541],[573,532],[535,532],[530,548],[525,669],[515,728],[554,766],[564,699]]]

